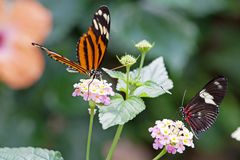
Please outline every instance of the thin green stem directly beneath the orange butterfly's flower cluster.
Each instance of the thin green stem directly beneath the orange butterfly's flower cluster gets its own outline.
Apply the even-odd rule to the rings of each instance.
[[[89,106],[90,106],[90,121],[89,121],[89,128],[88,128],[86,160],[89,160],[89,156],[90,156],[90,146],[91,146],[91,137],[92,137],[95,103],[92,102],[92,101],[89,101]]]

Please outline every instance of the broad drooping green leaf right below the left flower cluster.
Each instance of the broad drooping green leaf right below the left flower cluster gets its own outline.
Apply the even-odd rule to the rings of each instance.
[[[103,129],[114,125],[125,124],[146,108],[143,100],[136,96],[130,96],[124,100],[120,94],[111,99],[108,106],[99,106],[99,121]]]

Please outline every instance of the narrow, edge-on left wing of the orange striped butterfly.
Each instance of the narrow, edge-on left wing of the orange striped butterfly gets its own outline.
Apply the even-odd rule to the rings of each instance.
[[[43,47],[43,46],[41,46],[41,45],[39,45],[37,43],[32,43],[32,45],[42,49],[52,59],[54,59],[54,60],[56,60],[56,61],[58,61],[58,62],[60,62],[62,64],[67,65],[69,68],[71,68],[73,70],[76,70],[77,72],[84,73],[84,74],[88,73],[88,71],[86,69],[84,69],[83,67],[81,67],[78,63],[76,63],[74,61],[71,61],[71,60],[67,59],[64,56],[61,56],[60,54],[57,54],[57,53],[55,53],[53,51],[50,51],[49,49],[47,49],[47,48],[45,48],[45,47]]]

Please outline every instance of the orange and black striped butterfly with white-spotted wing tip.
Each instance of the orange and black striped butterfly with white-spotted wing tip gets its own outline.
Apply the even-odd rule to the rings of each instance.
[[[70,69],[90,77],[98,77],[98,68],[106,53],[110,33],[110,13],[107,6],[101,6],[93,16],[92,25],[88,32],[84,33],[77,43],[77,61],[50,51],[49,49],[32,43],[33,46],[44,50],[52,59],[67,65]]]

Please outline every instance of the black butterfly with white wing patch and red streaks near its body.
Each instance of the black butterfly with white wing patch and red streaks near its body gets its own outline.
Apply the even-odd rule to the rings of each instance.
[[[196,138],[215,122],[226,90],[227,79],[218,76],[209,81],[185,107],[181,107],[184,120],[189,124]]]

